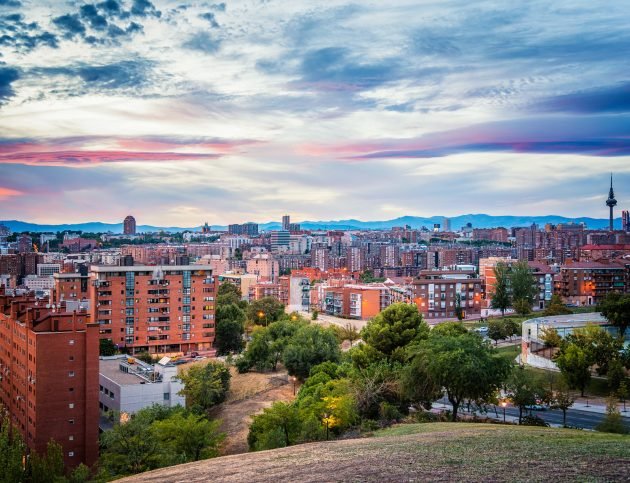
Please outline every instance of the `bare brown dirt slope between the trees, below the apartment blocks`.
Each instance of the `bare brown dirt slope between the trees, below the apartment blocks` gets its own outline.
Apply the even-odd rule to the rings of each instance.
[[[222,420],[221,431],[227,434],[222,454],[246,453],[252,416],[275,401],[293,399],[293,384],[286,372],[238,374],[233,371],[227,401],[210,413]]]

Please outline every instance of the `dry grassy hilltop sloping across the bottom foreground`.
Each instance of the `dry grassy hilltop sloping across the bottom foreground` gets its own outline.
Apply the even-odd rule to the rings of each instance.
[[[173,466],[128,482],[627,481],[630,437],[474,423],[399,425]]]

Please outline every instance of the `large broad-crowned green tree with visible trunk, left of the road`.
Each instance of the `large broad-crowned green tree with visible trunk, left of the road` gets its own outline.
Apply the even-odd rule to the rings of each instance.
[[[511,370],[511,362],[475,334],[429,338],[413,347],[412,367],[417,380],[442,387],[453,406],[453,421],[464,399],[492,397]]]

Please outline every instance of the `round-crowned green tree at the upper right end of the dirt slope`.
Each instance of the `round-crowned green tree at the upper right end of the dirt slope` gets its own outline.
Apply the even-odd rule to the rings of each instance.
[[[334,332],[319,325],[301,327],[283,354],[289,374],[301,380],[308,377],[311,367],[326,361],[338,362],[339,358],[339,344]]]

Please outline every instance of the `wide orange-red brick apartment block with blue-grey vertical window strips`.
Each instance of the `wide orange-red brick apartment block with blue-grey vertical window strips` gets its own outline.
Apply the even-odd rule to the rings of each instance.
[[[209,350],[218,284],[208,265],[90,268],[101,339],[132,353]]]

